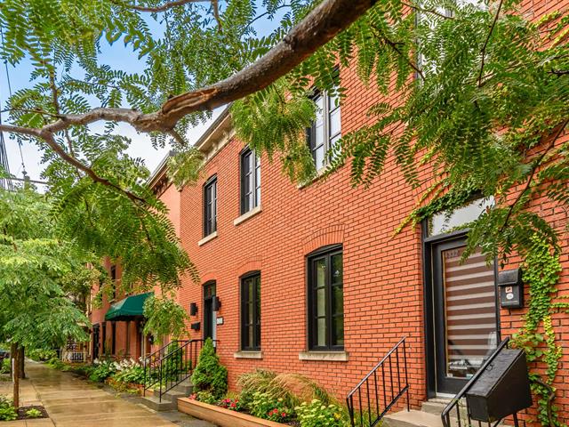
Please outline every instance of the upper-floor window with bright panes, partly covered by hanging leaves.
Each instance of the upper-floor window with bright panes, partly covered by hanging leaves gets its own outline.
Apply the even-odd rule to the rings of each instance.
[[[309,128],[309,147],[317,170],[328,164],[328,152],[341,138],[340,101],[327,92],[315,95],[317,118]]]

